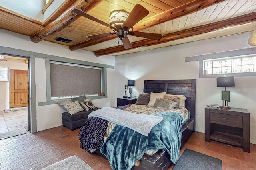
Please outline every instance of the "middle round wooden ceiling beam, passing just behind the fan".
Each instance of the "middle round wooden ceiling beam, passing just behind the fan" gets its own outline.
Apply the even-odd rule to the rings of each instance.
[[[207,8],[208,6],[217,4],[222,1],[225,1],[225,0],[194,0],[192,2],[184,4],[182,6],[172,8],[166,12],[162,12],[160,14],[157,14],[157,15],[147,18],[145,20],[139,21],[136,25],[134,25],[133,30],[139,31],[142,29],[146,29],[151,26],[158,25],[160,23],[164,23],[166,21],[170,21],[175,18],[179,18],[181,16],[190,14],[192,12],[202,10],[203,8]],[[109,36],[109,37],[112,37],[112,36]],[[116,38],[116,37],[113,37],[112,39],[114,39],[114,38]],[[107,39],[107,40],[110,40],[110,39]],[[105,41],[107,41],[107,40],[105,40]],[[84,42],[70,46],[69,49],[74,51],[74,50],[77,50],[80,48],[98,44],[99,42],[103,42],[102,38],[95,39],[92,41],[91,40],[84,41]]]

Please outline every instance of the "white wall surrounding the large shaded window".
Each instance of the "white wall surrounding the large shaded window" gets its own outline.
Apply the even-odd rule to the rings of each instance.
[[[44,53],[48,55],[56,55],[71,59],[89,61],[100,64],[114,65],[115,57],[106,55],[96,57],[94,53],[84,50],[70,51],[68,46],[58,45],[47,41],[33,43],[30,37],[12,33],[0,29],[0,37],[5,41],[0,41],[0,46],[22,49]],[[1,51],[0,51],[1,53]],[[114,107],[114,69],[107,69],[107,92],[108,98],[93,100],[96,107]],[[35,84],[42,83],[44,88],[36,88],[36,104],[38,102],[46,102],[46,68],[45,61],[41,58],[36,58],[35,61]],[[62,112],[64,111],[58,104],[36,106],[37,111],[37,131],[49,129],[62,125]]]

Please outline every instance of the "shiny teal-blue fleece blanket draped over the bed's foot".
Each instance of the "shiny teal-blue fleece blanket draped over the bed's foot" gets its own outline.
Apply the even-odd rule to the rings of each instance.
[[[116,125],[104,141],[100,152],[108,158],[114,170],[130,170],[146,150],[166,150],[170,161],[178,160],[182,137],[182,116],[178,113],[157,113],[163,121],[154,126],[148,136]]]

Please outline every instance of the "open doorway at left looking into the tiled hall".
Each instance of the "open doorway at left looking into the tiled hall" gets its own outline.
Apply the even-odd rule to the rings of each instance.
[[[7,67],[7,81],[0,82],[0,139],[29,132],[28,58],[4,55],[0,67]]]

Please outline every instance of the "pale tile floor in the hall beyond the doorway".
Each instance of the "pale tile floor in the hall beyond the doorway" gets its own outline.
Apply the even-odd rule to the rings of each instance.
[[[28,126],[28,110],[0,111],[0,133],[24,129],[24,126]]]

